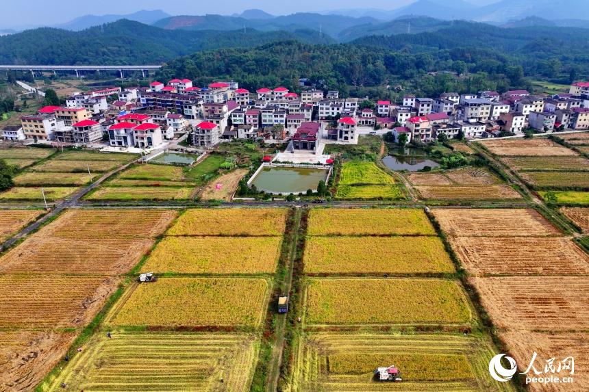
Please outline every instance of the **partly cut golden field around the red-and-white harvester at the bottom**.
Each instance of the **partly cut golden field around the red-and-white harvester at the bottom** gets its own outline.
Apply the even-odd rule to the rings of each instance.
[[[496,355],[490,339],[473,335],[378,332],[308,333],[297,345],[293,392],[507,392],[512,383],[488,375]],[[373,380],[377,367],[395,365],[403,382]]]

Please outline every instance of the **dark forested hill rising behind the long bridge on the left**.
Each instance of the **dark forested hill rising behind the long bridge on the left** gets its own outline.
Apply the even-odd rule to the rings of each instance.
[[[162,64],[181,55],[274,40],[332,43],[318,31],[166,30],[121,20],[82,31],[43,27],[0,37],[0,64]]]

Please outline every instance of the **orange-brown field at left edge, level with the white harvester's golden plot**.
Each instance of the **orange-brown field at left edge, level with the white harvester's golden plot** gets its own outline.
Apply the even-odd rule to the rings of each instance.
[[[105,276],[0,275],[0,328],[79,328],[120,280]]]

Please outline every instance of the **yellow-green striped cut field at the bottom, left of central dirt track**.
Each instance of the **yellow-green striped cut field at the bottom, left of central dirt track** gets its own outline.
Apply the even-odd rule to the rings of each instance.
[[[240,333],[125,332],[95,335],[43,387],[62,391],[249,391],[255,336]],[[223,380],[221,384],[220,380]]]

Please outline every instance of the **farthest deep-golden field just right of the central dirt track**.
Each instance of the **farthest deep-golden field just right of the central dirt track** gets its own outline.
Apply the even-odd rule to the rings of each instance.
[[[307,235],[436,235],[421,209],[312,209]]]

